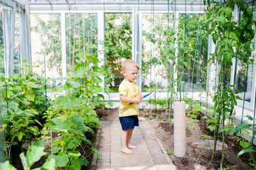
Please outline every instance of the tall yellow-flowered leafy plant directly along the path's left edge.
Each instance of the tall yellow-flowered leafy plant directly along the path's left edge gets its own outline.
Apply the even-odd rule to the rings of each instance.
[[[102,83],[99,77],[104,70],[97,67],[97,57],[83,57],[86,55],[84,52],[78,52],[77,55],[82,62],[75,66],[65,84],[53,90],[60,89],[65,94],[56,97],[52,106],[44,113],[47,123],[41,132],[42,135],[48,135],[51,130],[58,134],[59,139],[52,141],[53,149],[50,152],[57,166],[65,166],[66,169],[73,166],[80,169],[82,165],[87,166],[90,154],[101,155],[97,149],[90,147],[92,143],[87,139],[87,134],[93,133],[97,126],[100,127],[99,118],[93,109],[105,106],[105,101],[102,101],[105,89],[99,86]],[[43,139],[48,140],[49,137]],[[91,152],[85,154],[84,147]],[[83,152],[78,148],[82,148]]]

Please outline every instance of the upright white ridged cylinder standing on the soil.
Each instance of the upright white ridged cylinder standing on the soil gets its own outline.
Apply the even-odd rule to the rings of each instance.
[[[174,102],[174,155],[186,155],[186,108],[184,101]]]

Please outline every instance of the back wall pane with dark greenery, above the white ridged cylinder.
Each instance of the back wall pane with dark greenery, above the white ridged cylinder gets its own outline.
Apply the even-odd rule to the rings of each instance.
[[[185,18],[186,17],[186,18]],[[208,34],[206,33],[206,14],[181,13],[178,28],[178,53],[183,56],[183,62],[188,65],[180,68],[185,81],[181,91],[206,91]],[[185,29],[186,28],[186,29]],[[185,34],[186,30],[186,34]],[[187,53],[184,54],[184,50]]]

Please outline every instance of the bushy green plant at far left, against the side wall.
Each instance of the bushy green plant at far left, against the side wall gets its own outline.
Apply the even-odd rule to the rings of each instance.
[[[22,74],[4,78],[0,74],[2,123],[4,124],[4,145],[11,147],[21,142],[31,142],[40,135],[40,123],[48,108],[45,96],[45,79],[31,74],[33,66],[24,60],[18,64]],[[6,150],[6,158],[8,159]]]

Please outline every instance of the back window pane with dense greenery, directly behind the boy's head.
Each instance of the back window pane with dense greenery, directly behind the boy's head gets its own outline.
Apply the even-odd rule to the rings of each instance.
[[[132,13],[105,13],[105,49],[105,67],[112,72],[105,86],[117,92],[123,80],[121,63],[132,59]]]

